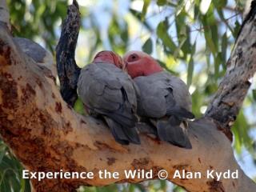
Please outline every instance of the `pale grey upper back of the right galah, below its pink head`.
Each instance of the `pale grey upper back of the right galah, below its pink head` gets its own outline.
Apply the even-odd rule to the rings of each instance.
[[[168,89],[173,90],[175,102],[191,111],[191,96],[187,86],[180,78],[162,71],[149,76],[134,78],[140,90],[138,98],[138,114],[142,116],[161,118],[166,114],[166,95]]]

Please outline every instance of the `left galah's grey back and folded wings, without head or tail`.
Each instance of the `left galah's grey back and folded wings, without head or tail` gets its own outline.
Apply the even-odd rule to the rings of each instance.
[[[122,126],[136,122],[136,94],[129,76],[113,64],[97,63],[84,67],[78,80],[82,102]]]

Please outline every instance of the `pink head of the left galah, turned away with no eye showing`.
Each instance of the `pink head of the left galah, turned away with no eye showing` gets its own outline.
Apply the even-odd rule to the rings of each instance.
[[[96,56],[94,57],[93,62],[113,63],[118,68],[123,69],[122,58],[118,54],[110,50],[103,50],[101,52],[98,52],[98,54],[96,54]]]

